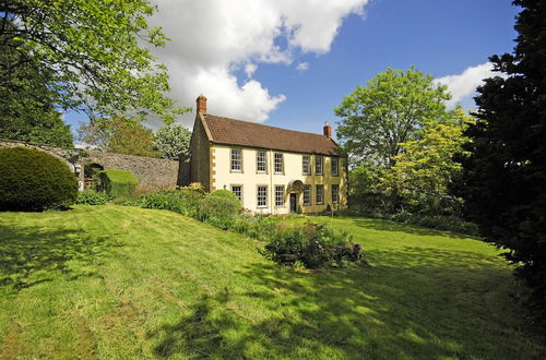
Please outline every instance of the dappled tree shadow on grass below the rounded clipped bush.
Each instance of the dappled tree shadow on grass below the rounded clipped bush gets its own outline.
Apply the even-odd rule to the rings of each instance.
[[[85,265],[96,264],[115,245],[108,237],[93,237],[79,229],[0,225],[0,285],[20,290],[51,281],[59,274],[69,279],[96,275]]]

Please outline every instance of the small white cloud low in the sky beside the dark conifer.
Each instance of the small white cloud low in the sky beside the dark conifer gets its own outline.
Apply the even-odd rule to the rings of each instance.
[[[486,62],[476,67],[466,68],[458,75],[435,79],[435,82],[448,85],[448,91],[451,93],[452,98],[446,104],[448,107],[453,107],[463,99],[473,96],[476,88],[484,82],[484,79],[498,75],[499,73],[492,71],[492,63]]]

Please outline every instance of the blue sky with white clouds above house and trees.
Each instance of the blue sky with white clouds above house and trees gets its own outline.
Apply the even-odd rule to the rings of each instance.
[[[153,51],[178,105],[202,94],[209,113],[316,133],[335,130],[334,107],[387,68],[415,65],[448,85],[449,107],[474,108],[495,75],[488,58],[513,49],[519,12],[509,0],[151,1],[150,23],[171,39]],[[87,121],[64,119],[73,130]]]

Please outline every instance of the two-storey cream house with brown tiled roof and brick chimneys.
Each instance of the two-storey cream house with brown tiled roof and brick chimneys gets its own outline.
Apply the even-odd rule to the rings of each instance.
[[[323,135],[223,118],[197,99],[191,182],[233,191],[254,213],[304,214],[347,202],[346,158],[327,123]]]

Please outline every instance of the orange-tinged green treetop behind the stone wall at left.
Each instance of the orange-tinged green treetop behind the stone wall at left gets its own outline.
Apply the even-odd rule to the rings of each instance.
[[[92,120],[79,129],[79,137],[104,152],[158,157],[151,129],[120,117]]]

